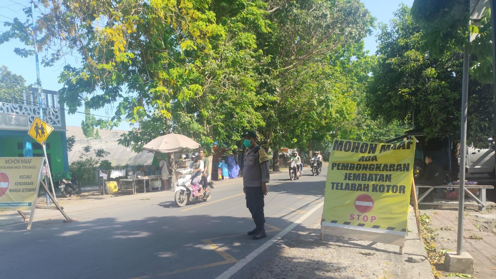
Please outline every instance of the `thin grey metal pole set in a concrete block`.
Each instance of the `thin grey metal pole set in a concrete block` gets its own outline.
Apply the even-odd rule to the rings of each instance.
[[[470,20],[469,20],[470,25]],[[463,244],[463,209],[465,204],[465,162],[467,146],[467,108],[468,108],[468,64],[469,64],[470,31],[468,31],[467,42],[463,50],[463,77],[462,77],[462,106],[461,106],[461,129],[460,129],[460,190],[458,192],[458,235],[456,242],[456,254],[462,253]]]

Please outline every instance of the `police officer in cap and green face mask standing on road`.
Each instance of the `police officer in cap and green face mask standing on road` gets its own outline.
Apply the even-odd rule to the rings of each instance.
[[[263,214],[263,198],[267,195],[267,183],[269,182],[269,156],[256,144],[256,134],[248,131],[244,145],[248,148],[243,161],[243,192],[246,194],[247,208],[256,227],[248,231],[253,239],[267,237],[265,233],[265,216]]]

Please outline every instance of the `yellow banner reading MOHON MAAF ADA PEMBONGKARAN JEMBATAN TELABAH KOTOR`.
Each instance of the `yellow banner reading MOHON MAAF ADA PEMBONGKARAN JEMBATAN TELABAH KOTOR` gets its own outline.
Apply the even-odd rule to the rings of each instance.
[[[404,246],[415,139],[336,139],[332,147],[321,232]]]

